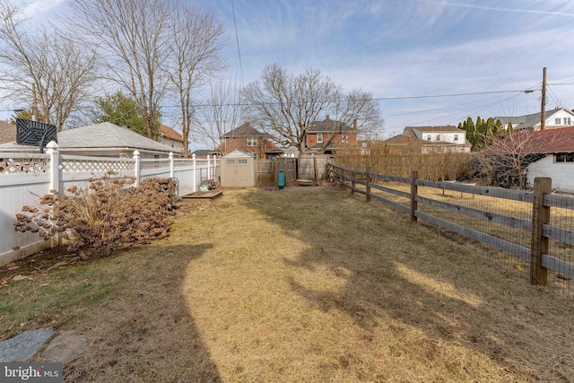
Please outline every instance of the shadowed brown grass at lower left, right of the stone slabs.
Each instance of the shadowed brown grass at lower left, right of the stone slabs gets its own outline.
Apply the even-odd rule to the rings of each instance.
[[[91,278],[122,287],[72,326],[89,347],[65,364],[65,381],[221,381],[181,288],[208,248],[149,246],[99,262]]]

